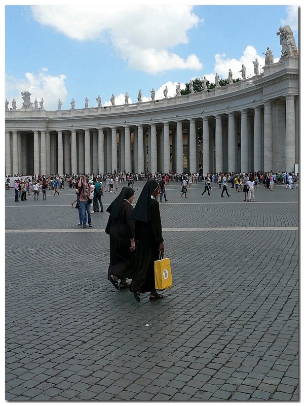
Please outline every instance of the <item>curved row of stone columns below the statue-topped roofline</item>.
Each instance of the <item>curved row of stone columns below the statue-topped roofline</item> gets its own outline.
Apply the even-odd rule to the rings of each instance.
[[[165,122],[7,130],[6,174],[291,171],[296,103],[287,95],[250,109]]]

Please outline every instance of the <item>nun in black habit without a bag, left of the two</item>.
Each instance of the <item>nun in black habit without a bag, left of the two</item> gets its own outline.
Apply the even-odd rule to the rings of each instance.
[[[123,187],[120,194],[107,208],[110,213],[105,232],[110,235],[110,264],[108,280],[116,289],[129,287],[135,259],[135,222],[131,219],[135,190]],[[120,280],[120,283],[118,282]]]

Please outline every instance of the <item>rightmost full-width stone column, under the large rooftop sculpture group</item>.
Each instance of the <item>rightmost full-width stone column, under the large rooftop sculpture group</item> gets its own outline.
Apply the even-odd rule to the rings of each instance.
[[[286,96],[285,166],[287,172],[294,171],[295,164],[295,104],[294,95]]]

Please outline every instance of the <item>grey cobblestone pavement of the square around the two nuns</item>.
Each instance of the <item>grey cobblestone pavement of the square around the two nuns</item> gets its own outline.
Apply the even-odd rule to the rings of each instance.
[[[6,192],[7,400],[299,399],[298,189],[202,190],[167,186],[173,286],[139,303],[106,280],[107,213],[80,229],[73,189]]]

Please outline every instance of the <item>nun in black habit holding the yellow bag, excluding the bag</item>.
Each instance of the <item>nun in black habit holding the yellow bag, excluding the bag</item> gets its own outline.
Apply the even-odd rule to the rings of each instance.
[[[158,182],[147,181],[144,185],[132,218],[135,219],[135,265],[130,291],[140,301],[140,293],[150,292],[150,300],[162,299],[155,289],[154,261],[164,252]]]

